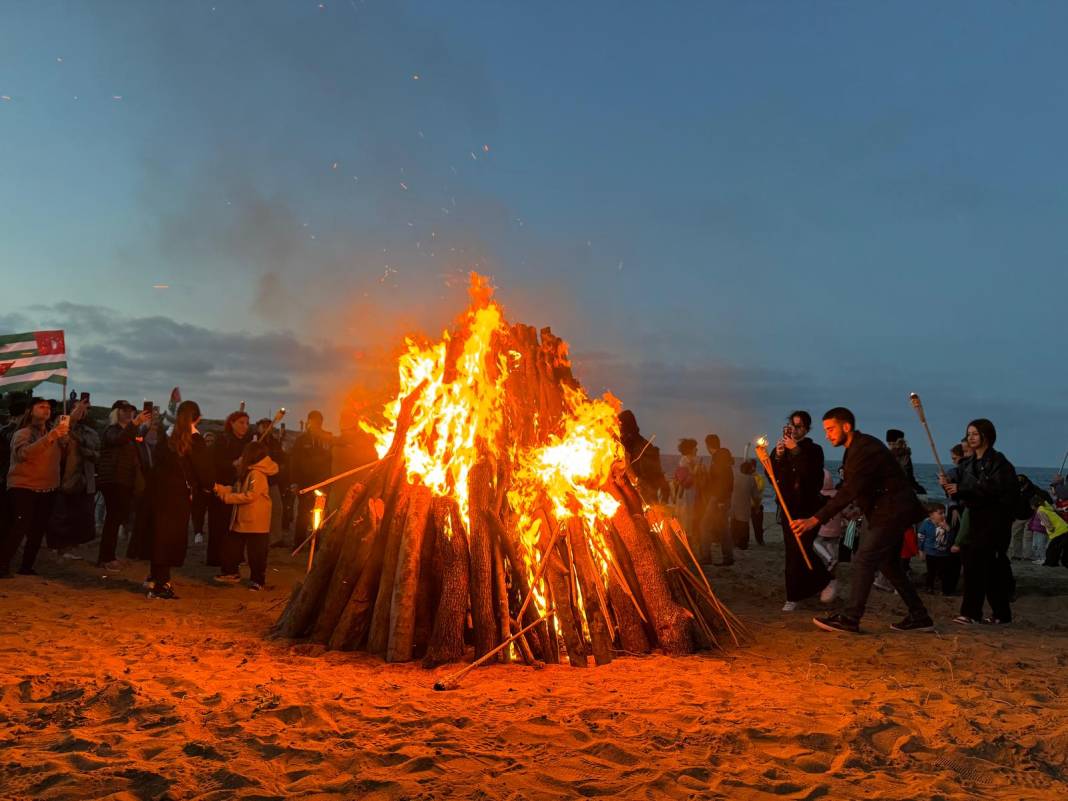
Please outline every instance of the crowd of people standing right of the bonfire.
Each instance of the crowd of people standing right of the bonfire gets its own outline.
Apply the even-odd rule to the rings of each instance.
[[[621,414],[622,439],[643,496],[673,507],[702,565],[728,566],[735,552],[749,547],[750,530],[764,544],[764,485],[778,482],[782,502],[776,518],[784,532],[784,612],[817,597],[838,596],[837,565],[852,563],[850,593],[841,612],[814,618],[820,628],[859,631],[873,587],[896,593],[909,612],[899,630],[933,626],[911,576],[911,561],[926,564],[923,588],[957,595],[963,577],[959,614],[962,626],[1006,625],[1012,619],[1016,591],[1012,560],[1028,559],[1048,567],[1068,567],[1068,486],[1054,477],[1049,491],[993,445],[998,434],[989,420],[973,420],[954,445],[953,467],[928,494],[917,482],[905,434],[890,429],[885,442],[857,428],[848,409],[837,407],[822,419],[827,440],[845,449],[832,475],[823,449],[811,437],[812,417],[791,412],[768,454],[771,470],[760,474],[756,460],[736,460],[712,434],[705,438],[707,461],[697,441],[678,443],[678,467],[663,474],[660,454],[641,436],[631,412]],[[784,509],[785,504],[785,509]],[[786,513],[789,513],[787,516]],[[719,546],[720,560],[713,561]],[[989,614],[987,614],[989,609]]]

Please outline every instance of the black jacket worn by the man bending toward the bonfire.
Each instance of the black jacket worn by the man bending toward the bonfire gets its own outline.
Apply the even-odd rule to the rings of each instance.
[[[904,531],[926,516],[912,483],[882,440],[853,433],[853,442],[842,457],[845,481],[834,498],[815,517],[820,523],[857,503],[869,528],[900,525]]]

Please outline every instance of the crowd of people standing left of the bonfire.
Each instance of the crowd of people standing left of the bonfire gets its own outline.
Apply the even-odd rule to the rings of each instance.
[[[97,564],[112,572],[127,566],[119,556],[125,534],[125,559],[148,563],[150,598],[176,597],[171,571],[185,564],[190,539],[206,540],[217,581],[239,582],[247,563],[249,588],[262,590],[269,548],[308,536],[315,497],[298,487],[377,457],[355,420],[343,419],[334,436],[314,410],[299,436],[287,437],[284,411],[253,423],[241,409],[221,431],[202,434],[192,400],[177,406],[173,421],[158,408],[115,400],[99,430],[88,397],[69,413],[56,406],[13,400],[0,427],[0,578],[12,576],[20,547],[16,572],[33,576],[43,545],[75,559],[99,530]]]

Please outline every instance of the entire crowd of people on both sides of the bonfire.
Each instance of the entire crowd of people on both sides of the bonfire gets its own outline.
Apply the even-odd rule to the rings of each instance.
[[[298,487],[377,457],[355,417],[342,420],[335,437],[324,429],[323,414],[311,411],[299,436],[287,437],[284,411],[253,423],[242,408],[221,430],[202,434],[200,407],[191,400],[171,420],[157,408],[116,400],[99,429],[88,397],[74,402],[68,414],[54,407],[37,397],[14,402],[0,427],[0,578],[11,577],[19,548],[17,572],[35,575],[44,544],[77,557],[77,547],[99,529],[97,564],[109,571],[126,567],[119,556],[125,532],[125,559],[148,563],[150,598],[175,597],[171,571],[185,564],[190,539],[206,540],[205,561],[219,568],[217,581],[240,582],[247,563],[249,587],[262,590],[270,546],[294,548],[309,534],[315,496]],[[826,438],[845,449],[835,476],[810,436],[812,424],[804,410],[788,415],[767,454],[767,475],[748,452],[736,464],[710,434],[707,457],[695,439],[679,441],[669,480],[659,449],[630,411],[619,415],[619,437],[643,497],[673,508],[702,565],[727,567],[751,538],[765,544],[765,488],[774,480],[784,532],[783,611],[817,596],[834,601],[837,565],[852,563],[842,611],[814,618],[824,629],[858,631],[873,587],[897,593],[908,607],[894,628],[929,629],[910,577],[914,557],[926,563],[928,592],[954,595],[963,576],[955,618],[963,626],[1011,622],[1012,559],[1068,567],[1068,485],[1056,476],[1047,491],[1017,475],[994,450],[989,420],[968,424],[951,453],[953,467],[939,477],[938,498],[917,483],[902,431],[886,431],[883,442],[860,431],[848,409],[831,409],[822,418]],[[331,505],[347,486],[332,485]]]

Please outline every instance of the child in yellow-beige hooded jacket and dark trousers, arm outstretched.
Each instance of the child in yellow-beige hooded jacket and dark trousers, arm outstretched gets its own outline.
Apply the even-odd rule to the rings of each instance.
[[[222,567],[216,581],[241,580],[238,566],[246,555],[251,571],[249,590],[263,590],[267,581],[267,548],[270,540],[271,500],[267,477],[278,473],[278,465],[267,455],[263,442],[250,442],[241,453],[237,484],[216,484],[215,493],[234,506],[230,532],[223,543]]]

